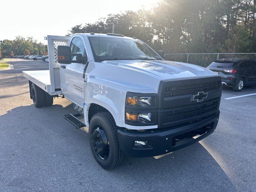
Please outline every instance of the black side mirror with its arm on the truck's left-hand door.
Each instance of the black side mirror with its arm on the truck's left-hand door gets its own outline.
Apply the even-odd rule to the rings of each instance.
[[[76,56],[76,60],[72,60],[72,56]],[[83,57],[82,54],[71,53],[70,46],[58,46],[58,63],[82,63],[85,60],[87,62],[87,57]]]

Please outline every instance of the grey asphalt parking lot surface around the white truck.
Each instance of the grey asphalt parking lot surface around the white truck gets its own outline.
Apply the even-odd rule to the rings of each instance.
[[[72,113],[71,102],[56,98],[53,106],[34,107],[22,70],[47,70],[48,63],[10,64],[14,69],[0,71],[0,192],[256,191],[256,95],[244,96],[256,88],[223,87],[219,124],[199,143],[126,158],[106,171],[91,154],[88,134],[62,117]]]

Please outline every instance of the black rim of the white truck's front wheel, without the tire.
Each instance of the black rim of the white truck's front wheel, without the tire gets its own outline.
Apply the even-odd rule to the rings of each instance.
[[[104,128],[100,124],[96,124],[91,137],[93,152],[95,152],[102,160],[106,160],[109,155],[109,143]]]

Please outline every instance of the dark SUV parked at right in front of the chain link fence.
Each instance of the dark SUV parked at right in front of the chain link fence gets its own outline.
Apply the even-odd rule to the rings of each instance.
[[[256,61],[247,59],[214,60],[208,68],[221,76],[222,85],[241,91],[244,86],[256,85]]]

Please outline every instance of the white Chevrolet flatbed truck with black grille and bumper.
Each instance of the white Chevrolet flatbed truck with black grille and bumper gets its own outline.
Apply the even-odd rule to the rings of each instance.
[[[192,64],[163,60],[147,44],[119,34],[48,36],[49,70],[23,71],[37,108],[62,96],[88,127],[98,164],[112,169],[124,156],[167,154],[214,132],[222,82]],[[161,52],[162,54],[163,52]]]

